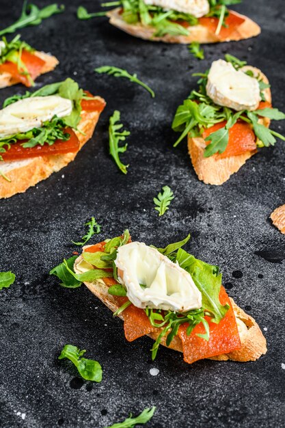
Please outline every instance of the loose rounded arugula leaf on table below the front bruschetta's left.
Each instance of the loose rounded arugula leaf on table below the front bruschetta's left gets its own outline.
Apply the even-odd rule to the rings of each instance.
[[[58,359],[68,358],[77,367],[83,379],[91,380],[92,382],[101,382],[103,374],[102,367],[98,361],[81,358],[85,352],[85,349],[81,351],[74,345],[65,345]]]

